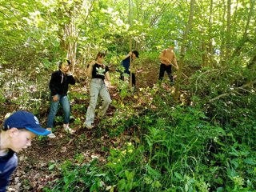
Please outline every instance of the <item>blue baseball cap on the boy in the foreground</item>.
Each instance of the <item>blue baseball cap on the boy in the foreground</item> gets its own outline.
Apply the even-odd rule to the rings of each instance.
[[[50,130],[46,130],[40,126],[38,118],[26,111],[18,110],[6,118],[3,124],[3,130],[11,128],[26,129],[34,134],[46,136],[50,134]]]

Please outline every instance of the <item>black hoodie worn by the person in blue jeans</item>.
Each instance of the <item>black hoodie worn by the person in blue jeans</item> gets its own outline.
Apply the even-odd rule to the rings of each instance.
[[[51,96],[56,94],[66,95],[69,89],[69,84],[74,85],[75,80],[72,75],[64,74],[61,70],[54,71],[50,78],[50,93]]]

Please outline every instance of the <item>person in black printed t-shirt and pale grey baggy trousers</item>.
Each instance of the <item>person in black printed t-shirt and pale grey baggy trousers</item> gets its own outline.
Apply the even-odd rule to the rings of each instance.
[[[98,118],[102,118],[106,114],[106,110],[110,106],[111,98],[110,93],[107,90],[104,80],[110,81],[109,67],[103,64],[106,54],[99,52],[96,60],[90,62],[87,67],[86,74],[91,77],[90,82],[90,104],[86,112],[86,122],[83,126],[87,129],[92,129],[94,126],[95,107],[98,100],[98,94],[102,98],[102,106],[98,110]]]

